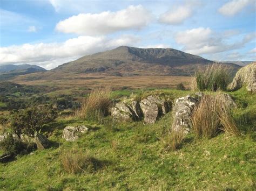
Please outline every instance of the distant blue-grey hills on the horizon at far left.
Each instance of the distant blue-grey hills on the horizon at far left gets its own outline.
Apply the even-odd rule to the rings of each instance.
[[[25,70],[25,69],[29,69],[29,68],[33,68],[35,69],[35,71],[40,71],[40,72],[44,72],[46,71],[46,69],[37,66],[37,65],[28,65],[28,64],[24,64],[24,65],[3,65],[0,66],[0,74],[1,73],[6,73],[6,72],[12,72],[13,70]]]

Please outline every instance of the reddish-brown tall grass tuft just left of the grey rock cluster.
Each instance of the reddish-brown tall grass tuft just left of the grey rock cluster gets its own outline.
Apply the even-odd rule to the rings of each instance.
[[[110,93],[110,88],[93,90],[82,103],[80,118],[88,121],[102,121],[102,118],[109,114]]]

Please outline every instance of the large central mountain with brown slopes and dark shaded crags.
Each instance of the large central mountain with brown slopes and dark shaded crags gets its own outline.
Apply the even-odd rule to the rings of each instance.
[[[200,56],[172,48],[135,48],[120,46],[110,51],[83,56],[64,63],[52,72],[104,73],[105,75],[176,75],[188,76],[198,65],[213,63]],[[225,63],[232,69],[240,67]]]

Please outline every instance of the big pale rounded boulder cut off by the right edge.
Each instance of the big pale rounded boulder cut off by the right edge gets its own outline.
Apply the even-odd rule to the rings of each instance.
[[[256,62],[239,69],[228,89],[237,90],[244,85],[248,91],[256,90]]]

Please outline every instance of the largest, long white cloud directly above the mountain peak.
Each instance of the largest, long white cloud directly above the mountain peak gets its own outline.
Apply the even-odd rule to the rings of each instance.
[[[60,21],[56,30],[79,35],[101,35],[121,30],[141,29],[151,20],[151,13],[142,5],[129,6],[117,12],[81,13]]]

